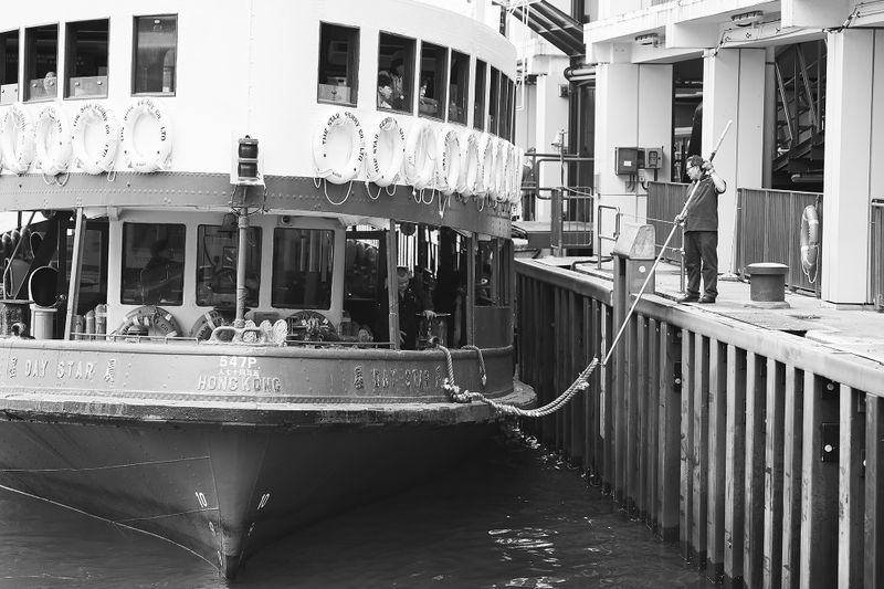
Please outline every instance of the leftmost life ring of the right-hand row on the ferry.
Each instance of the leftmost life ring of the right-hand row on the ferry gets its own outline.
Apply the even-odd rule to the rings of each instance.
[[[332,136],[339,130],[348,136],[343,154],[335,152],[337,143],[332,141]],[[365,130],[356,115],[349,111],[338,111],[316,127],[313,136],[313,165],[317,178],[335,185],[346,185],[359,173],[365,158]]]

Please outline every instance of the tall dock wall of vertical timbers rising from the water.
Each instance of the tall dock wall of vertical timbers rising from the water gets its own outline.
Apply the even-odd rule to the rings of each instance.
[[[516,275],[519,372],[545,404],[603,357],[630,301],[535,260]],[[586,393],[525,427],[709,578],[884,586],[877,362],[659,298],[624,337]]]

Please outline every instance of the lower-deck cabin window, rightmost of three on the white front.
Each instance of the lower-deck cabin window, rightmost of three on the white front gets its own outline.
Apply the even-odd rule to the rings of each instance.
[[[276,228],[271,304],[282,308],[330,308],[334,246],[332,230]]]

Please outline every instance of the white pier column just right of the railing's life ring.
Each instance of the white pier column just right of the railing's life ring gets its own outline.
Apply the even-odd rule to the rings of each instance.
[[[869,201],[880,196],[872,183],[884,188],[884,35],[864,29],[829,33],[827,76],[822,297],[862,304],[867,298]]]

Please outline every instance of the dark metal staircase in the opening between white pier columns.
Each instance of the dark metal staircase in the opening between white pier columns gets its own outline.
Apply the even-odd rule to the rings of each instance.
[[[774,187],[822,190],[825,144],[825,43],[777,51],[777,156]]]

